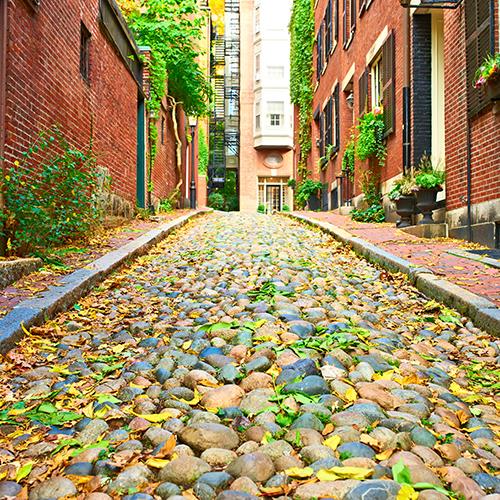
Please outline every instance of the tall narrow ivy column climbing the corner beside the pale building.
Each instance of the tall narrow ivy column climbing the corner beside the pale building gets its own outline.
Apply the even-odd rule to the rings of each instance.
[[[314,10],[312,0],[293,0],[290,20],[290,94],[298,108],[300,159],[298,172],[306,177],[307,157],[312,149],[312,76]]]

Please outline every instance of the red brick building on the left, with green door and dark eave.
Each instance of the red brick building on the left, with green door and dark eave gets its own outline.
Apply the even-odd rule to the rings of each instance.
[[[183,133],[183,121],[180,118]],[[75,147],[93,134],[114,212],[145,206],[148,117],[139,49],[114,0],[0,0],[0,158],[9,166],[40,130]],[[168,109],[156,124],[154,196],[177,182]],[[183,138],[183,158],[186,141]],[[184,174],[183,174],[184,176]]]

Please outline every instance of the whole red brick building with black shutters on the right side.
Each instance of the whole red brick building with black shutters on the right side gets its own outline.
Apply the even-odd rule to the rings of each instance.
[[[450,234],[469,237],[473,233],[475,240],[498,245],[500,117],[493,103],[472,88],[473,74],[484,56],[498,52],[498,2],[440,1],[439,7],[455,7],[446,9],[424,3],[412,1],[420,5],[410,9],[410,29],[405,32],[407,11],[400,0],[316,2],[309,170],[327,185],[323,209],[351,201],[357,205],[363,170],[380,167],[356,161],[354,182],[350,182],[342,175],[342,155],[359,116],[381,104],[387,144],[387,160],[380,170],[382,192],[390,191],[405,163],[415,165],[422,154],[429,154],[434,164],[446,167],[440,216],[446,218]],[[405,59],[406,39],[410,43]],[[411,119],[405,158],[406,64],[411,76]],[[335,153],[321,171],[318,160],[328,145]]]

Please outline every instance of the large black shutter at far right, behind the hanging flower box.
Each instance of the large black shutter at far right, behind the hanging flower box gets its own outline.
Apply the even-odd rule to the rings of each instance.
[[[491,47],[490,2],[486,0],[466,0],[466,65],[467,65],[467,109],[469,116],[478,114],[489,104],[481,89],[474,88],[474,76],[485,57],[494,51]]]

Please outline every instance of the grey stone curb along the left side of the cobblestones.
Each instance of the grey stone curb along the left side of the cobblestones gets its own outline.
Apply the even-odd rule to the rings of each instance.
[[[40,325],[67,310],[127,260],[146,253],[171,232],[206,213],[210,211],[200,210],[166,222],[65,276],[57,286],[50,287],[40,297],[25,300],[15,306],[0,319],[0,354],[12,349],[30,327]]]

